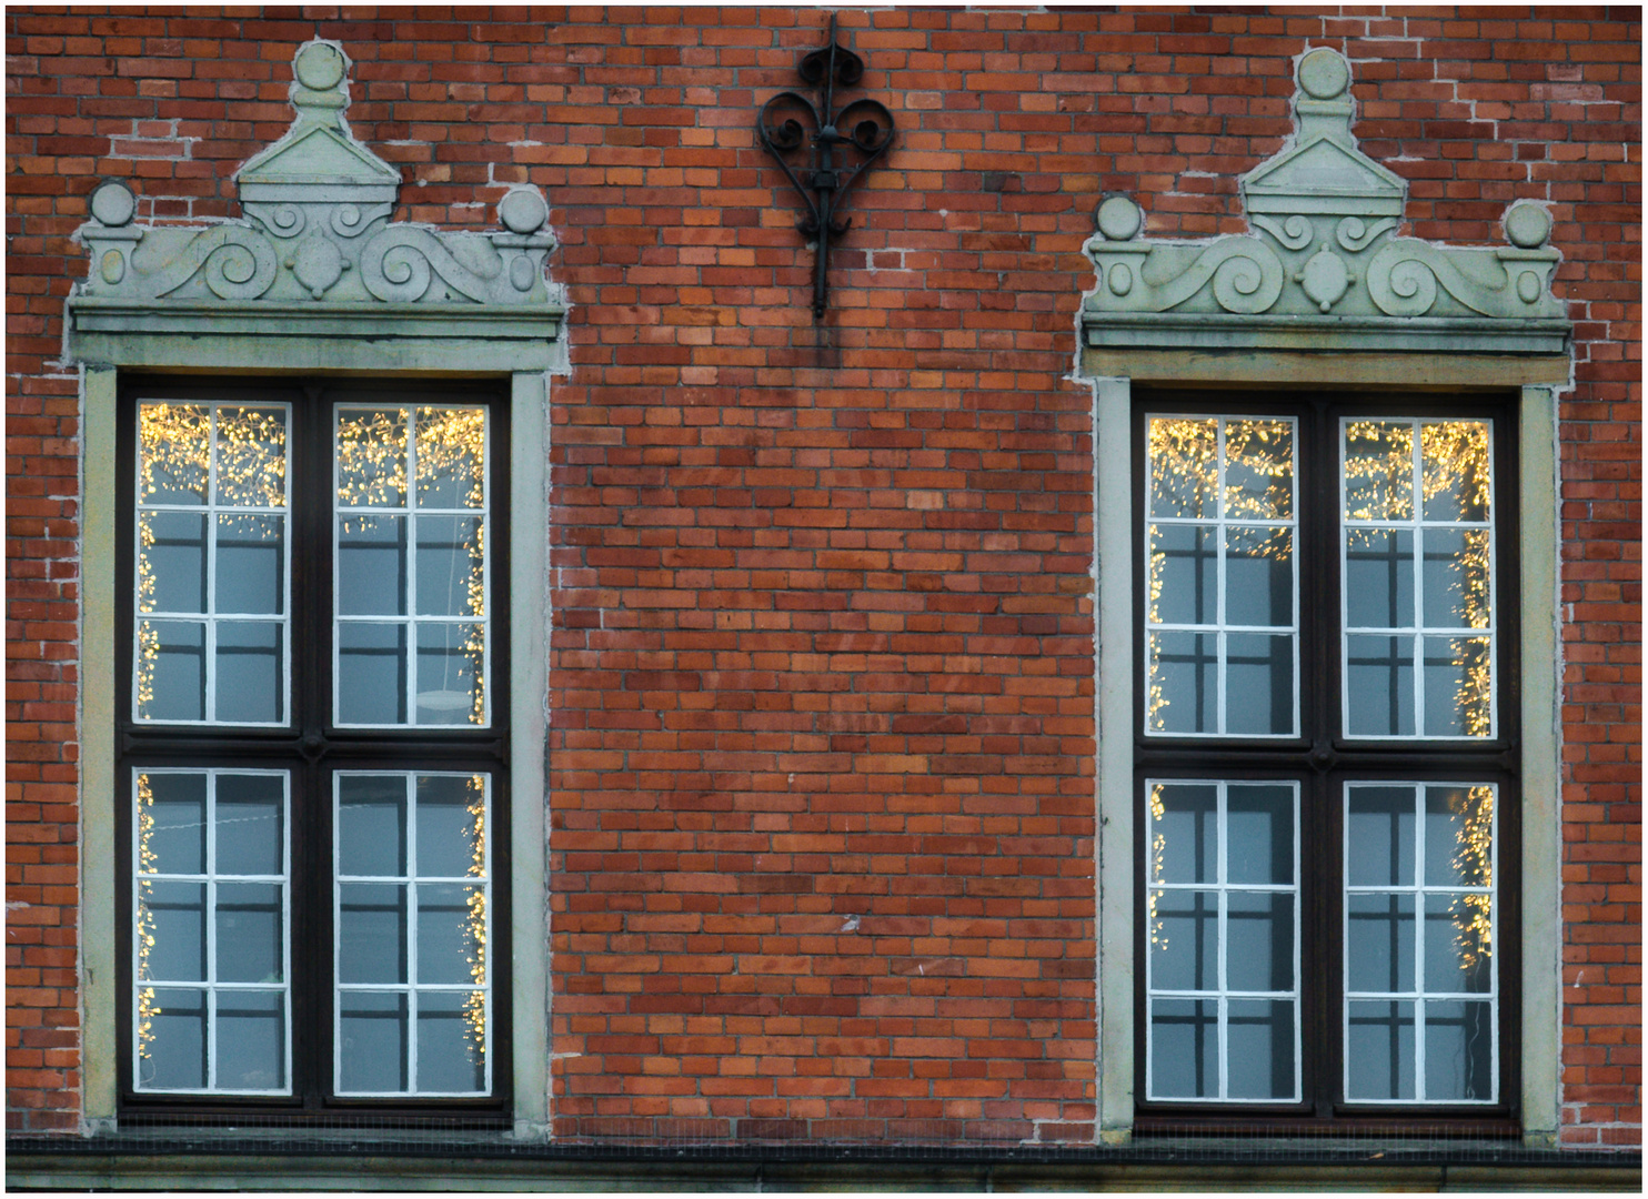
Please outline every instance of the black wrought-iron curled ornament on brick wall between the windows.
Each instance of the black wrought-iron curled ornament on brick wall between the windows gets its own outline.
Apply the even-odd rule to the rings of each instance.
[[[836,44],[836,16],[829,18],[829,41],[801,59],[801,79],[817,89],[821,104],[799,92],[780,92],[761,105],[756,133],[761,145],[778,160],[784,176],[808,206],[796,229],[804,237],[817,240],[812,264],[812,316],[824,316],[829,301],[829,247],[832,237],[847,232],[850,219],[839,217],[847,189],[859,180],[864,168],[887,153],[893,143],[893,114],[878,100],[857,99],[836,112],[836,86],[852,87],[864,77],[864,59],[850,49]],[[812,120],[812,135],[796,117]],[[812,166],[796,170],[789,165],[803,145],[812,147]],[[837,152],[857,152],[852,166],[837,163]]]

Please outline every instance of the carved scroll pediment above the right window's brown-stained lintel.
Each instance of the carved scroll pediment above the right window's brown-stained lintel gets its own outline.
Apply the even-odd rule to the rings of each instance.
[[[1393,237],[1406,183],[1356,148],[1353,112],[1346,61],[1332,49],[1307,53],[1292,145],[1241,181],[1252,234],[1140,240],[1137,204],[1107,198],[1086,244],[1099,280],[1083,310],[1088,344],[1310,348],[1312,331],[1355,326],[1365,348],[1422,349],[1452,338],[1450,348],[1564,349],[1549,212],[1511,204],[1505,247]],[[1394,323],[1411,346],[1381,343],[1378,329],[1389,324],[1394,334]]]

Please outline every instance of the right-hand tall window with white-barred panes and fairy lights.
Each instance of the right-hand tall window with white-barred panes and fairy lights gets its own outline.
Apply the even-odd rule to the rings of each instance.
[[[1511,427],[1140,400],[1140,1117],[1510,1113]]]

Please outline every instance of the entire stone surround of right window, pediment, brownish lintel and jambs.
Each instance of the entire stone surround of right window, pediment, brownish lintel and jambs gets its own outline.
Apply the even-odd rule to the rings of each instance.
[[[1406,184],[1356,150],[1350,64],[1295,59],[1294,137],[1241,181],[1257,236],[1139,239],[1124,196],[1088,242],[1098,287],[1078,316],[1076,377],[1093,387],[1094,838],[1098,875],[1098,1140],[1134,1120],[1134,384],[1175,389],[1424,395],[1515,392],[1521,537],[1521,1056],[1523,1140],[1559,1123],[1561,639],[1557,397],[1572,387],[1571,324],[1551,295],[1561,255],[1529,201],[1510,247],[1388,237]],[[1315,244],[1317,252],[1307,257]]]

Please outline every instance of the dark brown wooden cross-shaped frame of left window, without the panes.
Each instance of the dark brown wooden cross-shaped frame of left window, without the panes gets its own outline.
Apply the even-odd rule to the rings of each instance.
[[[224,400],[292,405],[290,544],[292,679],[283,728],[150,725],[132,715],[135,588],[137,408],[143,399]],[[473,404],[488,410],[491,575],[489,726],[339,730],[331,708],[331,413],[335,404]],[[509,891],[509,380],[460,382],[356,377],[201,377],[122,374],[115,441],[115,962],[119,987],[115,1044],[117,1117],[137,1122],[221,1122],[257,1115],[262,1122],[404,1123],[440,1118],[442,1127],[509,1127],[511,1052],[511,891]],[[292,1094],[247,1095],[138,1092],[132,1079],[132,774],[133,767],[224,767],[290,771],[290,1013]],[[333,944],[331,777],[338,771],[475,771],[491,779],[488,855],[491,871],[489,962],[493,1089],[481,1097],[339,1097],[331,1094],[335,991],[333,957],[305,962],[305,945]]]

